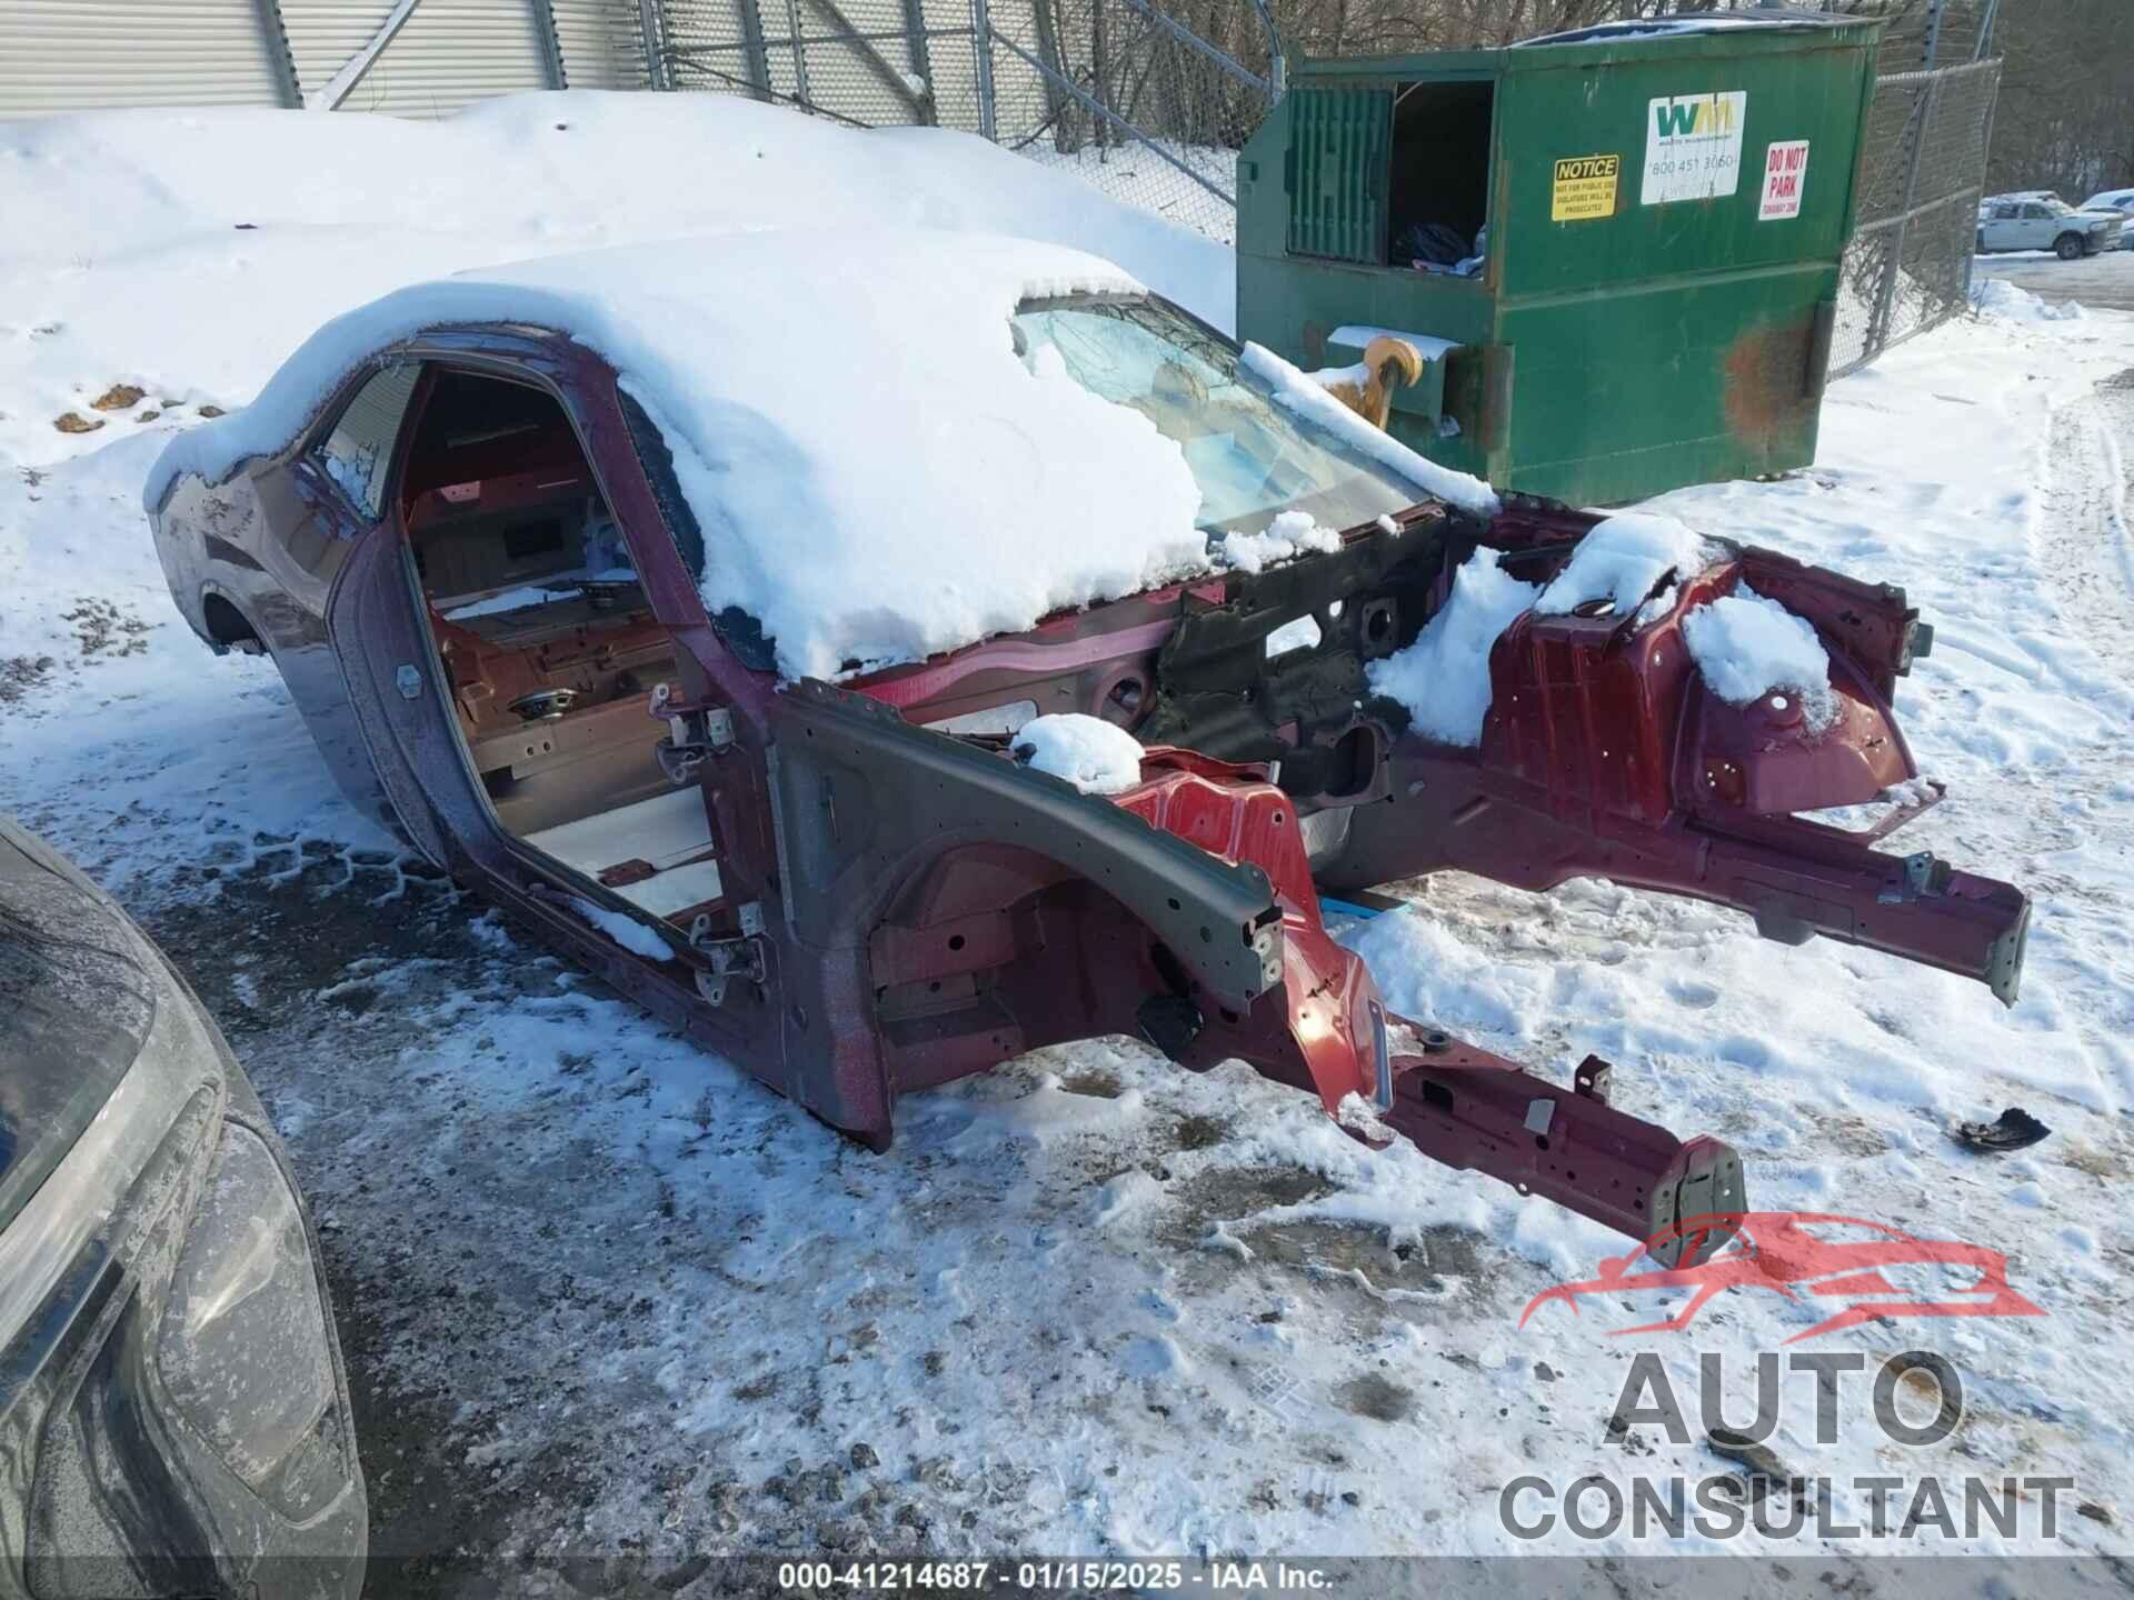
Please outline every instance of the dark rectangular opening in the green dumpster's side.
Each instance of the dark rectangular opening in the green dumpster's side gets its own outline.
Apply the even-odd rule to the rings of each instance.
[[[1402,83],[1394,96],[1387,265],[1475,275],[1490,254],[1496,85]]]

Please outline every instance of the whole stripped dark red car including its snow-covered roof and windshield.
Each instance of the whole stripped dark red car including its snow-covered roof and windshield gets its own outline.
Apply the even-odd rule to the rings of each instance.
[[[1793,815],[1938,798],[1899,589],[1714,544],[1492,629],[1447,674],[1487,717],[1426,736],[1372,672],[1477,572],[1575,582],[1603,518],[1076,252],[877,237],[856,284],[760,235],[403,290],[145,503],[179,610],[275,659],[359,804],[877,1148],[903,1092],[1127,1033],[1630,1237],[1741,1210],[1733,1152],[1607,1105],[1605,1062],[1566,1088],[1394,1015],[1327,937],[1319,890],[1453,866],[2014,998],[2021,892]],[[1829,653],[1829,721],[1701,681],[1684,617],[1748,589]],[[1014,759],[1052,713],[1140,740],[1118,791]]]

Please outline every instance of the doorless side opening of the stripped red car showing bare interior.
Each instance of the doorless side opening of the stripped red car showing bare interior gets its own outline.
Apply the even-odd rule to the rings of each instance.
[[[563,407],[442,371],[401,476],[408,550],[469,766],[523,845],[687,928],[721,898],[702,785],[655,747],[685,663]]]

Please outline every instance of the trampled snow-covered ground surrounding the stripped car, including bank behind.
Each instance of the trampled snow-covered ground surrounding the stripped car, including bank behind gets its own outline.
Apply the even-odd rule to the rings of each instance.
[[[676,105],[685,126],[662,122]],[[662,156],[621,160],[636,139]],[[666,156],[685,139],[696,183]],[[1624,1295],[1522,1329],[1534,1293],[1620,1242],[1125,1039],[915,1094],[894,1150],[864,1154],[412,870],[331,789],[273,668],[207,655],[177,619],[141,480],[169,431],[243,405],[331,311],[461,265],[839,207],[856,292],[888,207],[1122,256],[1204,311],[1227,299],[1201,241],[1065,175],[715,96],[536,96],[437,126],[0,126],[0,809],[164,941],[288,1135],[378,1549],[623,1553],[683,1581],[713,1549],[1665,1549],[1522,1542],[1498,1489],[1724,1470],[1652,1427],[1611,1442],[1630,1357],[1688,1399],[1697,1353],[1722,1353],[1739,1421],[1754,1355],[1822,1310],[1735,1291],[1688,1335],[1613,1338],[1682,1303]],[[2068,1474],[2051,1549],[2125,1551],[2134,378],[2123,318],[2010,309],[1837,384],[1812,471],[1658,508],[1904,585],[1936,625],[1899,713],[1950,800],[1899,838],[2036,896],[2019,1007],[1596,883],[1404,885],[1413,909],[1347,937],[1411,1015],[1541,1071],[1611,1058],[1620,1105],[1735,1141],[1763,1210],[2006,1250],[2047,1316],[1807,1346],[1946,1355],[1950,1440],[1899,1451],[1854,1404],[1818,1444],[1803,1385],[1771,1449],[1833,1476]],[[113,386],[141,395],[96,410]],[[66,412],[102,427],[58,431]],[[2012,1103],[2053,1137],[2002,1158],[1950,1141]],[[1775,1547],[1814,1572],[1859,1549]]]

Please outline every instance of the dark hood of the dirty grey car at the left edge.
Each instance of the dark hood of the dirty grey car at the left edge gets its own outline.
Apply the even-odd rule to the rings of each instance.
[[[96,1120],[154,1020],[126,926],[0,817],[0,1229]]]

